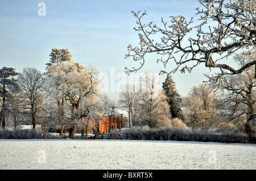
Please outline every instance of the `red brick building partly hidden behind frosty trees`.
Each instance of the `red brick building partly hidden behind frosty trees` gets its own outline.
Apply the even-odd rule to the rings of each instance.
[[[123,128],[123,114],[108,115],[100,120],[101,133],[108,133],[110,130]]]

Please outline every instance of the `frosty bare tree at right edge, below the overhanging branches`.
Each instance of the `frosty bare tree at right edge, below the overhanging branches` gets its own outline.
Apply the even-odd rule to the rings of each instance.
[[[249,55],[237,54],[234,60],[242,67],[255,57]],[[224,104],[226,110],[230,110],[226,114],[227,121],[238,119],[244,120],[245,130],[249,136],[256,134],[256,85],[255,85],[255,69],[247,68],[241,75],[223,77],[223,85],[221,90],[224,91]]]

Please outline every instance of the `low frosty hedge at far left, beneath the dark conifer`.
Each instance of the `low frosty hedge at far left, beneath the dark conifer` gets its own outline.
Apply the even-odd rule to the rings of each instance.
[[[47,139],[51,134],[35,129],[0,130],[0,139]]]

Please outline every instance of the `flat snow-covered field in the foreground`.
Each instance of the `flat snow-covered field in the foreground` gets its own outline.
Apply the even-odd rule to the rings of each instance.
[[[0,140],[0,169],[256,169],[256,145],[135,140]]]

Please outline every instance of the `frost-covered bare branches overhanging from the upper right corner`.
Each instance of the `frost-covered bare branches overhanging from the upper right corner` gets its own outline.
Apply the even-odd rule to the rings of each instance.
[[[224,74],[240,74],[255,65],[254,59],[236,69],[226,63],[226,58],[242,49],[247,53],[256,49],[256,1],[199,0],[199,3],[203,8],[196,9],[196,15],[200,15],[197,25],[193,24],[193,18],[187,20],[181,15],[170,16],[170,24],[162,18],[162,27],[153,22],[144,24],[142,19],[147,15],[146,11],[132,11],[137,19],[138,27],[134,30],[139,32],[140,43],[136,47],[128,45],[126,58],[133,57],[141,65],[131,69],[126,67],[126,73],[141,69],[145,55],[150,53],[159,54],[157,62],[162,62],[164,68],[169,61],[176,64],[173,70],[161,70],[160,74],[175,73],[179,69],[181,73],[190,73],[203,63],[209,69],[218,68],[219,72],[210,77],[220,80]],[[154,39],[158,37],[160,40]]]

